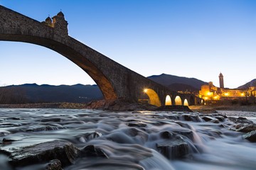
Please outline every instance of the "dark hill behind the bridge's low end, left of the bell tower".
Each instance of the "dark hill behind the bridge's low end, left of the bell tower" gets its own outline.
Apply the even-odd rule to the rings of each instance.
[[[177,77],[169,74],[154,75],[148,77],[149,79],[156,81],[156,83],[163,84],[174,91],[199,91],[203,84],[208,84],[205,81],[201,81],[195,78]]]

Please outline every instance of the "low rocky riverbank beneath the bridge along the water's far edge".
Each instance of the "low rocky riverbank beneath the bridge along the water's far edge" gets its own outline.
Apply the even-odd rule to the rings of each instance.
[[[27,103],[27,104],[0,104],[0,108],[70,108],[70,109],[96,109],[107,111],[171,111],[173,108],[152,106],[146,103],[130,103],[127,101],[90,101],[84,103]],[[200,113],[215,113],[216,111],[247,111],[255,112],[256,106],[189,106],[191,111]],[[176,110],[175,110],[176,109]],[[183,108],[175,108],[174,111],[181,111]]]

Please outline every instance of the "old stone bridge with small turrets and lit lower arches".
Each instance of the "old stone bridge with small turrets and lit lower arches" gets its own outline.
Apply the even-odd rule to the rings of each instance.
[[[28,42],[60,53],[92,77],[106,100],[143,101],[147,94],[155,106],[201,103],[200,98],[170,91],[71,38],[62,12],[38,22],[0,6],[0,40]]]

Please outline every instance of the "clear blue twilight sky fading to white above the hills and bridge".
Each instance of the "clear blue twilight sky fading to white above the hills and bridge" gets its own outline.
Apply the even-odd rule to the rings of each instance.
[[[254,0],[0,0],[37,21],[60,9],[68,33],[145,77],[172,74],[236,88],[256,79]],[[0,85],[95,84],[46,47],[0,41]]]

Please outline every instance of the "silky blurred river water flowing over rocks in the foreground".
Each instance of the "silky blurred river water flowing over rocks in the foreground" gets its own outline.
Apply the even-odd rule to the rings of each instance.
[[[106,157],[79,157],[64,169],[256,169],[256,144],[242,139],[242,132],[228,130],[234,123],[205,122],[193,113],[185,121],[181,112],[114,112],[72,109],[1,109],[0,142],[15,140],[0,149],[11,149],[62,140],[78,148],[95,145]],[[252,118],[255,120],[255,118]],[[188,152],[161,154],[157,145],[164,134],[180,137]],[[179,139],[179,138],[178,138]],[[178,155],[178,157],[177,157]],[[0,169],[14,169],[0,154]],[[43,164],[15,169],[43,169]]]

